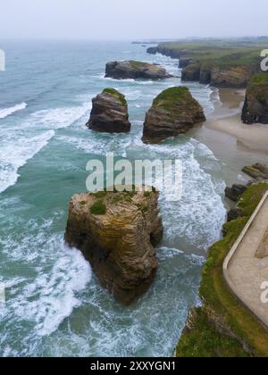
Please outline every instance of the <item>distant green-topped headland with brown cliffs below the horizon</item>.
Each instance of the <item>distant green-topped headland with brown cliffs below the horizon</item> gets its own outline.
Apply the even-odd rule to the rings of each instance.
[[[256,42],[255,42],[256,43]],[[182,81],[197,81],[214,87],[247,87],[260,71],[260,47],[243,43],[197,41],[162,43],[147,49],[148,54],[163,54],[180,59]]]

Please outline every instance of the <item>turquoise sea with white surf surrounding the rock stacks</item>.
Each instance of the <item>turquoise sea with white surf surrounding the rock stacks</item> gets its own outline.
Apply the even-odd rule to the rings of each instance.
[[[161,145],[140,141],[147,108],[164,88],[180,85],[178,62],[130,43],[3,42],[0,72],[1,356],[163,356],[183,329],[205,250],[221,234],[225,209],[221,165],[189,137]],[[105,63],[161,63],[177,78],[104,79]],[[129,102],[128,135],[85,127],[91,98],[115,87]],[[213,111],[212,90],[189,85]],[[80,252],[63,242],[71,195],[86,189],[86,164],[107,152],[135,158],[180,158],[183,196],[161,196],[164,237],[155,284],[126,308],[102,289]]]

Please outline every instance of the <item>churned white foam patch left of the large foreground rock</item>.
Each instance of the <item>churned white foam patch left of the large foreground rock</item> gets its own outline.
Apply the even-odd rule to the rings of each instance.
[[[52,334],[80,306],[78,294],[92,276],[89,263],[80,251],[64,244],[62,234],[49,237],[55,217],[57,212],[50,221],[24,222],[21,238],[0,239],[4,254],[29,268],[27,278],[5,282],[9,300],[2,319],[7,324],[10,316],[28,321],[34,325],[31,335],[41,337]]]

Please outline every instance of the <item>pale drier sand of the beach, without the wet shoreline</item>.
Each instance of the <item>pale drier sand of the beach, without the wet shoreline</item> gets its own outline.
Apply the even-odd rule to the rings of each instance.
[[[245,91],[222,88],[219,90],[219,95],[222,105],[216,105],[214,119],[209,119],[205,126],[236,137],[240,147],[244,146],[245,149],[268,154],[268,125],[246,125],[241,121]],[[233,111],[238,113],[232,114]]]

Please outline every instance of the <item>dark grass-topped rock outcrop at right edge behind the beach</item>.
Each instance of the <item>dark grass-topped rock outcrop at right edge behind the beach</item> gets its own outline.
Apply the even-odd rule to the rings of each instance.
[[[247,87],[242,121],[268,124],[268,73],[255,74]]]

